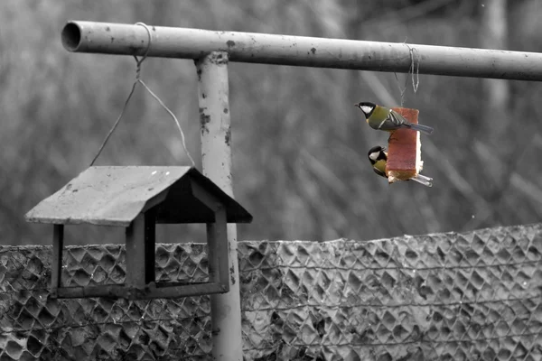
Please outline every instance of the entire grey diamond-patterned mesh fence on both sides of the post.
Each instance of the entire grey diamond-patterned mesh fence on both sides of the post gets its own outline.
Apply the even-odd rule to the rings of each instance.
[[[542,359],[542,225],[238,245],[247,360]],[[68,247],[64,285],[121,283],[121,245]],[[204,281],[203,245],[156,278]],[[51,299],[51,248],[0,246],[0,360],[210,358],[209,298]]]

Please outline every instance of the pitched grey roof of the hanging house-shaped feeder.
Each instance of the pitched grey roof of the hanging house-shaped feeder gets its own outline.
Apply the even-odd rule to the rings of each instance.
[[[229,223],[252,221],[245,208],[195,168],[153,166],[90,167],[43,199],[25,218],[51,224],[128,227],[141,212],[155,207],[157,223],[214,222],[214,211],[209,201],[201,201],[201,190],[226,209]]]

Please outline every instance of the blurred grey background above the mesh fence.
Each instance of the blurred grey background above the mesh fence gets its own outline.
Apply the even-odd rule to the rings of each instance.
[[[131,57],[74,54],[68,20],[269,32],[382,42],[542,51],[537,0],[303,0],[0,3],[0,234],[51,244],[23,215],[89,162],[135,77]],[[423,61],[420,68],[423,69]],[[148,59],[143,79],[182,123],[201,170],[192,60]],[[542,84],[231,63],[234,192],[254,215],[238,239],[369,240],[537,222],[542,214]],[[424,174],[388,185],[369,166],[385,144],[359,101],[420,110]],[[98,165],[188,165],[171,118],[138,88]],[[161,242],[202,241],[167,227]],[[124,242],[123,230],[70,227],[68,244]]]

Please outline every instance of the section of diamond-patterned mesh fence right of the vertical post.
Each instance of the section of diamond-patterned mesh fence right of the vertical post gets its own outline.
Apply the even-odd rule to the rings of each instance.
[[[245,244],[247,354],[540,359],[541,229]]]

